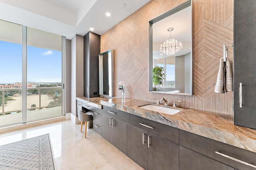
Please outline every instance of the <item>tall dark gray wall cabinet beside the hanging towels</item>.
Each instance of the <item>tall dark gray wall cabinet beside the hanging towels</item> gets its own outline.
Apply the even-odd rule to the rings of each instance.
[[[256,129],[255,11],[255,0],[234,0],[234,124],[253,129]]]

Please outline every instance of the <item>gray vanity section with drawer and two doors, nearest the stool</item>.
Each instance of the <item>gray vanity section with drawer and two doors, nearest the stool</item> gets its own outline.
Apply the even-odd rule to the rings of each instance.
[[[102,110],[102,137],[127,154],[127,113],[104,106]]]

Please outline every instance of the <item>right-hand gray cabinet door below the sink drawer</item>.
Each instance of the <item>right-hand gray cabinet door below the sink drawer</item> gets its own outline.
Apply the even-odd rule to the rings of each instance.
[[[179,145],[148,133],[148,170],[178,170]]]

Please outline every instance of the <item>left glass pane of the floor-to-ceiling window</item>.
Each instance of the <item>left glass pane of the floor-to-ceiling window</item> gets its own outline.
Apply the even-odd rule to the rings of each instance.
[[[22,25],[0,20],[0,126],[22,122]]]

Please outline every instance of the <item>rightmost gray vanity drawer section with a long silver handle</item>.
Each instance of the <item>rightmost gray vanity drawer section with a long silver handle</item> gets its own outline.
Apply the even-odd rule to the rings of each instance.
[[[189,164],[192,164],[194,159],[195,159],[194,161],[196,161],[196,157],[194,157],[194,156],[196,156],[196,154],[194,152],[197,152],[198,154],[200,154],[200,155],[198,155],[198,157],[202,157],[202,159],[205,162],[208,162],[206,164],[209,164],[209,166],[214,163],[214,160],[216,160],[214,163],[214,164],[216,164],[216,166],[222,166],[222,165],[218,165],[219,162],[221,162],[222,164],[233,167],[232,170],[234,168],[238,169],[238,170],[255,170],[256,169],[252,166],[242,164],[236,160],[232,160],[230,158],[227,158],[225,156],[222,156],[222,155],[216,153],[216,152],[220,152],[222,154],[231,156],[238,160],[247,162],[249,164],[255,164],[255,162],[256,162],[256,153],[255,152],[251,152],[251,151],[248,151],[245,149],[234,147],[234,146],[231,146],[231,145],[219,142],[219,141],[215,141],[215,140],[212,140],[212,139],[209,139],[206,137],[202,137],[200,135],[196,135],[194,133],[180,130],[180,146],[181,146],[180,147],[180,166],[181,167],[183,167],[183,165],[182,165],[183,163],[187,164],[187,166],[190,167]],[[194,152],[185,150],[182,147],[185,147]],[[190,154],[186,154],[186,153],[190,153]],[[187,158],[184,155],[186,155]],[[208,157],[210,159],[208,159],[208,158],[206,159],[205,157]],[[198,164],[200,164],[200,161],[198,162]],[[200,165],[194,165],[194,166],[195,166],[194,170],[197,170],[196,168],[198,166],[202,167]],[[206,165],[206,166],[208,167],[208,165]],[[184,166],[184,168],[186,168],[186,167]],[[206,168],[206,169],[208,169],[208,168]],[[211,168],[209,168],[209,169],[211,169]],[[212,169],[215,170],[218,168],[212,168]]]

